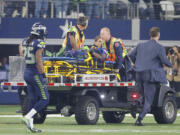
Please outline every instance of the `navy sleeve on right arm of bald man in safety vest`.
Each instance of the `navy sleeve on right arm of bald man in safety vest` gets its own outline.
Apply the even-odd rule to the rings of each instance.
[[[119,42],[114,43],[114,50],[116,54],[116,64],[115,64],[115,69],[121,69],[122,67],[122,54],[123,54],[123,49],[121,47],[121,44]]]

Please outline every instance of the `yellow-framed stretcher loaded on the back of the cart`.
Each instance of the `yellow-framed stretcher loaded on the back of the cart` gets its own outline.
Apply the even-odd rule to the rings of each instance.
[[[43,61],[44,71],[50,82],[59,81],[61,76],[65,82],[73,82],[77,74],[114,74],[114,62],[99,62],[90,54],[87,58],[43,57]],[[120,81],[120,75],[116,76]]]

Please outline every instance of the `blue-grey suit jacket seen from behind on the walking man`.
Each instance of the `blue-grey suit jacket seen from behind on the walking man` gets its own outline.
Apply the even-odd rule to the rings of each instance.
[[[167,82],[163,64],[168,67],[172,65],[166,57],[165,48],[155,40],[138,44],[129,56],[136,72],[150,71],[151,82]]]

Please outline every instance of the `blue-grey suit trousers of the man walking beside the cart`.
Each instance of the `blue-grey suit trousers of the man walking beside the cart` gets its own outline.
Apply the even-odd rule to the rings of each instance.
[[[136,72],[136,81],[140,90],[144,93],[144,105],[139,118],[142,120],[150,112],[156,92],[156,83],[150,82],[151,74],[149,71]]]

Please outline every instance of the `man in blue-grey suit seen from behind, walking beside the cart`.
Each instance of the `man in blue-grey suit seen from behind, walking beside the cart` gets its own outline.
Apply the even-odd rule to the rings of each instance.
[[[163,66],[172,66],[166,58],[165,48],[158,43],[160,29],[152,27],[150,29],[150,37],[149,41],[138,44],[130,53],[130,58],[134,62],[136,82],[144,92],[144,106],[135,123],[136,126],[143,126],[141,121],[151,109],[156,92],[156,84],[167,83]]]

